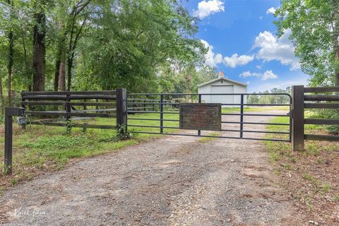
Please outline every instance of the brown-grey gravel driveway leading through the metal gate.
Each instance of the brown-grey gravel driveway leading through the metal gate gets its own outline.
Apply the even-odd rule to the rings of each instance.
[[[165,136],[19,185],[0,197],[0,225],[289,225],[263,143],[199,139]]]

